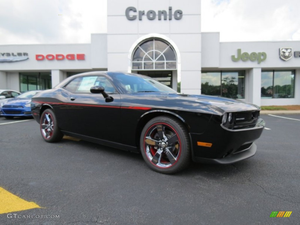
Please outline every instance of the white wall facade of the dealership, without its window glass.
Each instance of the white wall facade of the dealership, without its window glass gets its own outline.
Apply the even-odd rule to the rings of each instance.
[[[91,44],[0,45],[0,89],[20,91],[20,73],[48,72],[55,86],[68,72],[169,71],[173,89],[180,79],[182,93],[201,94],[202,71],[243,70],[245,101],[257,105],[300,104],[300,57],[294,55],[300,51],[300,41],[220,43],[219,33],[201,33],[199,0],[110,0],[107,28],[107,34],[91,34]],[[148,40],[170,45],[176,65],[134,68],[134,52]],[[291,48],[292,57],[280,59],[280,48]],[[244,58],[233,61],[232,55],[238,58],[238,49],[241,54],[245,52]],[[4,62],[22,57],[28,59]],[[154,64],[157,58],[153,57]],[[295,71],[294,98],[261,98],[262,70]]]

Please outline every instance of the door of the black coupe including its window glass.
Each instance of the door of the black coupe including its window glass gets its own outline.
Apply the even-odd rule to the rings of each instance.
[[[92,86],[103,86],[113,97],[90,92]],[[60,128],[92,138],[118,142],[120,137],[120,94],[105,76],[81,76],[63,88],[64,104],[57,109]]]

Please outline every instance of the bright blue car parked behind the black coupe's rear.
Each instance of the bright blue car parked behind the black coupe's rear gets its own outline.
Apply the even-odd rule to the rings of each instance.
[[[40,91],[27,91],[15,98],[6,100],[0,104],[0,115],[7,119],[15,116],[32,117],[31,98]]]

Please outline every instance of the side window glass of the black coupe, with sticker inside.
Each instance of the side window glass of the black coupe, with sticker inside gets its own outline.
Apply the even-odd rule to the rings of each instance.
[[[110,81],[103,76],[82,76],[71,80],[64,88],[73,93],[91,93],[92,86],[103,86],[107,93],[117,92]]]

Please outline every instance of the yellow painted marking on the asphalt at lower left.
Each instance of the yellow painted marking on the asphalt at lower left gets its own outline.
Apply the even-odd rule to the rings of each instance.
[[[35,202],[27,202],[24,199],[10,193],[0,187],[0,214],[22,211],[32,208],[41,208]]]

